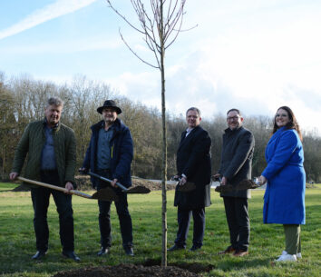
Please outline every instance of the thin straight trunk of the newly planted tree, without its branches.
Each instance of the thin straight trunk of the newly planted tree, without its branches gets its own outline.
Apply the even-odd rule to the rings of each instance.
[[[167,266],[167,197],[166,197],[166,179],[167,179],[167,132],[166,132],[166,105],[165,105],[165,68],[164,68],[164,40],[163,40],[163,21],[162,5],[160,1],[160,74],[161,74],[161,123],[162,123],[162,172],[161,172],[161,219],[162,219],[162,247],[161,247],[161,266]]]

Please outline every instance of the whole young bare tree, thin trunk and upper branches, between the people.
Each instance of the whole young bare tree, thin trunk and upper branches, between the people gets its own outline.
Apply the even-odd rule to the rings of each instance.
[[[166,104],[165,104],[165,50],[177,38],[181,31],[182,17],[184,15],[185,0],[170,0],[164,5],[166,0],[151,0],[152,15],[148,15],[142,0],[131,0],[136,15],[138,15],[141,27],[131,24],[127,18],[119,13],[112,6],[111,0],[106,0],[112,10],[122,17],[122,19],[130,25],[134,30],[144,36],[144,41],[153,52],[157,64],[141,58],[130,45],[123,39],[122,41],[130,49],[131,53],[141,60],[144,64],[148,64],[153,68],[160,69],[161,75],[161,124],[162,124],[162,166],[161,166],[161,223],[162,223],[162,243],[161,243],[161,265],[167,266],[167,199],[166,199],[166,179],[167,179],[167,130],[166,130]],[[173,2],[173,3],[172,3]],[[163,18],[163,8],[165,7],[165,23]],[[166,8],[167,7],[167,8]],[[170,35],[173,38],[168,41]],[[122,36],[122,34],[121,34]],[[158,40],[159,39],[159,40]]]

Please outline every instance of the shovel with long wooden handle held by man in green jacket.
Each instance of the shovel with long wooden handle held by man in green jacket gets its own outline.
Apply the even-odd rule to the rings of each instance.
[[[50,188],[50,189],[60,191],[63,193],[72,193],[74,195],[81,196],[81,197],[88,198],[88,199],[98,199],[98,200],[110,201],[110,202],[118,200],[118,196],[116,195],[116,193],[114,193],[112,191],[112,188],[105,188],[105,189],[99,190],[96,193],[93,193],[92,195],[89,195],[89,194],[82,193],[82,192],[79,192],[76,190],[71,190],[70,192],[68,192],[68,190],[63,187],[56,186],[56,185],[53,185],[50,183],[42,183],[42,182],[26,179],[24,177],[17,177],[17,179],[20,181],[24,181],[26,183],[33,183],[33,184],[41,185],[46,188]]]

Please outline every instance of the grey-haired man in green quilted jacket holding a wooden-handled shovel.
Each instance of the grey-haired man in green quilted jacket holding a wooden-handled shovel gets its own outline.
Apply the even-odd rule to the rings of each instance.
[[[15,150],[15,159],[10,179],[21,173],[25,156],[28,154],[24,176],[29,179],[65,187],[75,188],[76,143],[73,130],[60,123],[63,101],[58,97],[48,100],[44,120],[28,124]],[[37,252],[34,260],[44,258],[48,250],[49,229],[47,210],[50,194],[53,194],[60,223],[60,238],[63,256],[80,261],[73,252],[73,207],[72,195],[45,187],[31,187],[34,205],[34,232]]]

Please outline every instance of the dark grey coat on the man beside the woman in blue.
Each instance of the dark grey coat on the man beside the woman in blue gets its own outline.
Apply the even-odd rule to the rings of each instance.
[[[239,127],[236,130],[225,130],[220,160],[219,173],[228,178],[233,186],[245,179],[251,179],[254,136],[248,129]],[[249,198],[250,191],[232,191],[220,193],[220,196]]]

